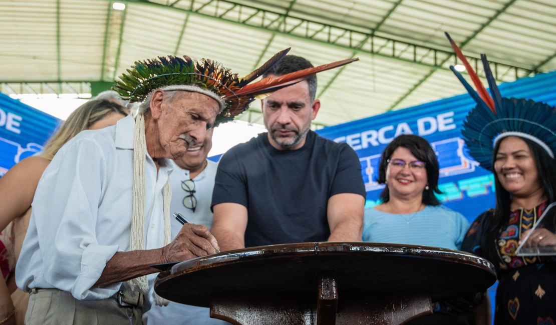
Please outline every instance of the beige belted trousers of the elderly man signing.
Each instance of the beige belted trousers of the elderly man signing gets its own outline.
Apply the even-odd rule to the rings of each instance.
[[[41,324],[142,324],[141,308],[120,307],[116,299],[77,300],[71,293],[41,289],[29,296],[28,325]]]

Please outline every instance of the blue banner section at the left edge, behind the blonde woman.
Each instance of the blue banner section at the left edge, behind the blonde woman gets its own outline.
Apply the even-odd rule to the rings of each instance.
[[[41,151],[59,121],[0,93],[0,176]]]

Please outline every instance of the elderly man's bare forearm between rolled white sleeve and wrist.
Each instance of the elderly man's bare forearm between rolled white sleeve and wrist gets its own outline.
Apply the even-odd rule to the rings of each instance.
[[[152,264],[166,263],[163,248],[131,252],[117,252],[106,263],[95,287],[106,287],[112,283],[127,281],[151,273],[160,272]]]

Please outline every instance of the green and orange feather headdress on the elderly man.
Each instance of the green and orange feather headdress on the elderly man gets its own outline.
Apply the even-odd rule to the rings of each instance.
[[[276,53],[260,68],[244,78],[231,73],[230,69],[224,68],[220,63],[208,59],[197,62],[187,55],[183,55],[183,58],[168,55],[158,59],[137,61],[131,69],[126,70],[127,73],[120,76],[120,80],[116,80],[113,89],[130,103],[144,101],[156,89],[186,90],[205,94],[220,104],[216,126],[233,120],[235,116],[249,108],[249,104],[256,97],[300,82],[312,74],[359,60],[357,58],[341,60],[280,77],[269,76],[253,82],[284,58],[289,50],[287,48]]]

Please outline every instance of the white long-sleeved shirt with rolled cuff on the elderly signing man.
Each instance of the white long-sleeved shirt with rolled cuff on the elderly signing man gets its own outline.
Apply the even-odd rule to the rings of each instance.
[[[92,288],[116,252],[130,250],[133,187],[131,116],[115,126],[83,131],[54,156],[38,183],[17,286],[57,288],[76,299],[111,297],[121,282]],[[145,249],[163,246],[162,188],[171,165],[157,172],[146,154]],[[149,276],[152,284],[155,275]]]

